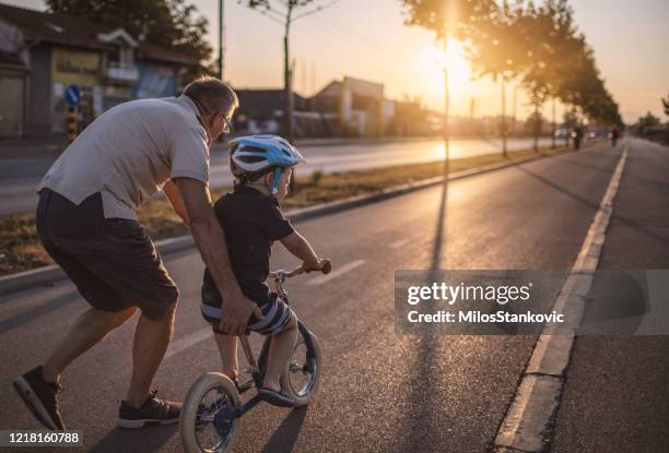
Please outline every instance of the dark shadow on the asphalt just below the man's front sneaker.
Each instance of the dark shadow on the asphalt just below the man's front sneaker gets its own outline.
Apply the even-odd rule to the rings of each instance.
[[[177,424],[144,429],[114,428],[89,450],[92,453],[156,452],[175,436]]]

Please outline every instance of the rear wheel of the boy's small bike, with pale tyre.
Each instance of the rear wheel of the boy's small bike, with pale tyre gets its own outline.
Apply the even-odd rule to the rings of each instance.
[[[239,419],[226,415],[239,406],[233,381],[209,372],[192,384],[179,419],[179,434],[187,453],[223,453],[233,448]]]

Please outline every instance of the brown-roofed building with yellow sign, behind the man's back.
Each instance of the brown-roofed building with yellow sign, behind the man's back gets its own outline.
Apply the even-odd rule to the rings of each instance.
[[[124,28],[0,4],[0,138],[63,134],[70,85],[81,127],[125,100],[174,95],[193,63]]]

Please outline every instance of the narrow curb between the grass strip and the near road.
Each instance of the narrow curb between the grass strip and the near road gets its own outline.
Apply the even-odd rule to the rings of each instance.
[[[324,203],[316,206],[304,207],[300,210],[293,210],[286,212],[285,216],[291,222],[304,222],[321,217],[329,214],[334,214],[341,211],[364,206],[366,204],[376,203],[383,200],[388,200],[395,196],[400,196],[407,193],[415,192],[422,189],[426,189],[433,186],[437,186],[445,181],[455,181],[458,179],[467,178],[474,175],[482,175],[490,171],[512,167],[519,164],[526,164],[532,160],[539,160],[547,157],[556,157],[566,153],[571,153],[573,150],[565,148],[554,153],[538,153],[536,155],[513,159],[510,162],[503,162],[497,164],[485,165],[478,168],[471,168],[468,170],[458,171],[451,174],[449,177],[435,177],[425,179],[422,181],[410,182],[407,184],[396,186],[394,188],[384,189],[373,193],[366,193],[362,195],[351,196],[344,200],[338,200],[330,203]],[[177,252],[179,250],[188,249],[195,245],[192,236],[186,235],[176,238],[165,239],[157,241],[155,247],[161,254],[167,254]],[[27,289],[38,285],[54,285],[55,283],[67,278],[67,275],[58,265],[49,265],[36,270],[21,272],[19,274],[5,275],[0,277],[0,296],[7,296],[12,293],[17,293],[23,289]]]

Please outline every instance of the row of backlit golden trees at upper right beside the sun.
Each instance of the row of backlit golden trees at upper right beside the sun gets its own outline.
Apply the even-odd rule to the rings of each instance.
[[[540,5],[523,0],[400,1],[408,25],[431,29],[439,40],[451,36],[462,43],[474,76],[518,83],[536,118],[547,102],[560,100],[571,117],[623,126],[567,0]]]

